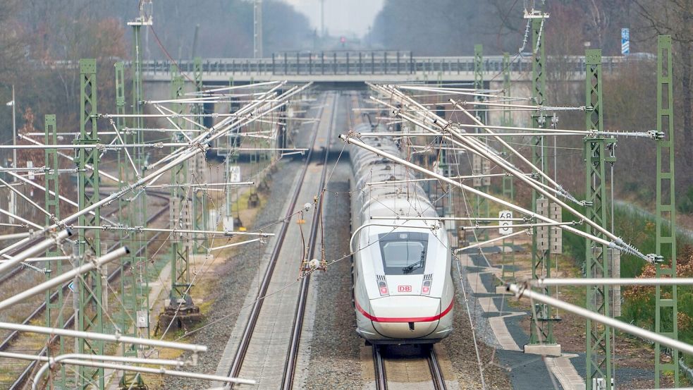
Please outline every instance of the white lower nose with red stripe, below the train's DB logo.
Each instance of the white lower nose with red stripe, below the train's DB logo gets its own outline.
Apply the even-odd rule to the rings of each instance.
[[[440,301],[417,295],[374,299],[371,301],[373,327],[382,336],[393,339],[427,336],[438,327]]]

